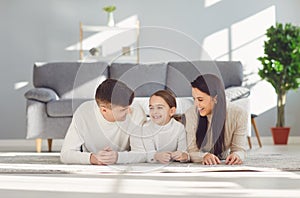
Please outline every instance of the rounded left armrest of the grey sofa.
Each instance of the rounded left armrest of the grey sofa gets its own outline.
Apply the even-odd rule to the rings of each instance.
[[[49,102],[58,99],[57,93],[48,88],[34,88],[27,91],[24,96],[27,99],[37,100],[41,102]]]

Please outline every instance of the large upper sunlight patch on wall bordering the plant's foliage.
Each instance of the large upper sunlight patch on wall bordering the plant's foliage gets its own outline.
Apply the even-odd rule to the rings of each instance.
[[[275,6],[271,6],[230,27],[232,60],[243,60],[246,73],[257,73],[260,66],[257,58],[264,53],[266,29],[275,21]]]

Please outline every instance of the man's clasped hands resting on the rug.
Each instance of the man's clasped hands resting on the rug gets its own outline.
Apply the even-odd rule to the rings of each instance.
[[[109,165],[115,164],[118,160],[118,152],[113,151],[110,147],[105,147],[97,154],[91,155],[91,164],[95,165]]]

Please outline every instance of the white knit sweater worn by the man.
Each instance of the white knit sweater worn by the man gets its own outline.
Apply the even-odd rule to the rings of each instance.
[[[134,106],[131,110],[132,113],[127,115],[125,121],[109,122],[104,119],[95,100],[80,105],[66,134],[61,161],[90,164],[91,153],[97,153],[106,146],[119,151],[117,163],[145,161],[145,155],[126,152],[129,150],[131,131],[136,130],[146,119],[141,107]],[[81,147],[83,152],[80,151]]]

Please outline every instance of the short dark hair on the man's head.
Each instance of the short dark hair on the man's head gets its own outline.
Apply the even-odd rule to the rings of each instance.
[[[134,92],[123,82],[115,79],[106,79],[97,88],[95,99],[99,103],[111,103],[118,106],[132,104]]]

